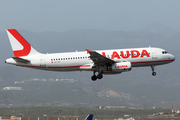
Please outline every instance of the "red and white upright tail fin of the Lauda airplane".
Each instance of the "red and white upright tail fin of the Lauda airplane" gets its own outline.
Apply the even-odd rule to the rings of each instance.
[[[7,29],[7,34],[15,57],[39,54],[16,29]]]

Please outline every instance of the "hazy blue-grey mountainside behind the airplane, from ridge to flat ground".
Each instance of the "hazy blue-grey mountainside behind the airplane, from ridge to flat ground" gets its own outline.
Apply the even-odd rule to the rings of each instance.
[[[151,29],[157,30],[152,32]],[[171,33],[166,35],[168,31]],[[150,67],[133,68],[130,72],[105,75],[102,80],[93,82],[90,80],[92,72],[49,72],[5,64],[4,60],[13,53],[6,33],[0,33],[0,106],[179,106],[179,31],[154,24],[131,32],[93,29],[19,32],[42,53],[151,45],[168,50],[176,56],[176,61],[156,67],[155,77]],[[15,84],[16,81],[20,83]],[[2,90],[7,86],[20,86],[23,90]]]

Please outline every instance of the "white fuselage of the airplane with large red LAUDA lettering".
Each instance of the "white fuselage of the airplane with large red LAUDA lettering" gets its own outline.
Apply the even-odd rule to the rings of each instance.
[[[116,62],[128,61],[132,64],[132,67],[156,66],[167,64],[175,60],[174,56],[167,53],[165,50],[151,47],[97,50],[96,52]],[[96,70],[95,68],[92,68],[94,62],[90,59],[90,55],[87,54],[86,51],[54,54],[35,54],[32,56],[21,58],[30,60],[31,62],[29,64],[22,64],[17,63],[15,60],[10,58],[6,60],[6,63],[51,71]],[[104,71],[104,73],[106,73],[106,71]],[[112,73],[115,74],[117,72]]]

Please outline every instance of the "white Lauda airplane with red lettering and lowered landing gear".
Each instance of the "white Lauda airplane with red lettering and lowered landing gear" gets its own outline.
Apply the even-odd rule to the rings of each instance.
[[[128,72],[133,67],[150,66],[155,76],[155,66],[171,63],[174,55],[156,47],[88,50],[42,54],[36,51],[16,29],[7,29],[14,57],[5,63],[49,71],[93,71],[91,79],[102,79],[103,74]]]

